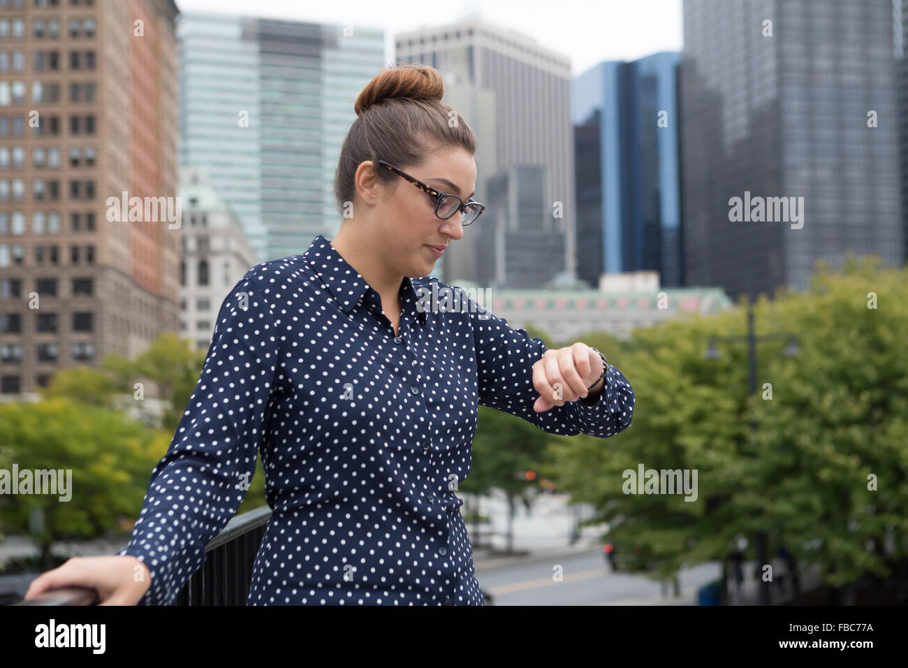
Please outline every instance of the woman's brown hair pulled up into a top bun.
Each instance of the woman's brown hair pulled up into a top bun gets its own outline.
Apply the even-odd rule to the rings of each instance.
[[[441,102],[444,94],[439,71],[422,64],[389,67],[360,91],[353,106],[357,118],[341,145],[334,175],[334,197],[341,214],[344,203],[353,201],[354,176],[364,161],[378,168],[381,159],[406,169],[421,165],[426,155],[441,148],[476,154],[476,135],[456,110]],[[384,184],[401,180],[380,168],[377,178]]]

